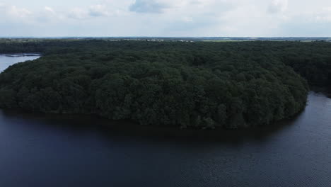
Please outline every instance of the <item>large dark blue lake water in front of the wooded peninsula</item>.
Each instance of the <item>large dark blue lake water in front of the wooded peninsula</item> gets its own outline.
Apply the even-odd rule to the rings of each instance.
[[[331,186],[331,99],[272,128],[191,131],[0,111],[0,186]]]

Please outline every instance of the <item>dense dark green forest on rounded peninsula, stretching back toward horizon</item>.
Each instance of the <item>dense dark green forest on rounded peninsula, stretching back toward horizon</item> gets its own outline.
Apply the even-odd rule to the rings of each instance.
[[[330,42],[0,40],[40,52],[0,74],[0,108],[141,125],[248,128],[291,118],[331,89]]]

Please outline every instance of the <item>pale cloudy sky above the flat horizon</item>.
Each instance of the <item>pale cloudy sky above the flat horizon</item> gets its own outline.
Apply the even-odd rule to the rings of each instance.
[[[330,0],[0,0],[0,37],[331,37]]]

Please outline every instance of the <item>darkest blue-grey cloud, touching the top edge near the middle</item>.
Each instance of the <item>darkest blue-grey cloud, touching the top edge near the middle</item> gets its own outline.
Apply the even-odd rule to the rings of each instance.
[[[129,6],[129,11],[137,13],[162,13],[165,8],[168,8],[168,5],[162,1],[136,0],[134,4]]]

